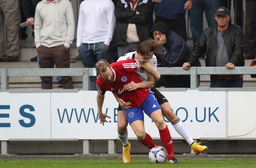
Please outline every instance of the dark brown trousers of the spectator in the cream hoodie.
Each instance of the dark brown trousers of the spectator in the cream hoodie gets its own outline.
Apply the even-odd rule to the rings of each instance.
[[[54,64],[57,68],[70,68],[69,50],[67,51],[64,45],[55,47],[45,47],[40,45],[37,48],[39,56],[40,68],[54,68]],[[53,77],[42,76],[42,89],[53,88]],[[63,89],[73,89],[72,78],[70,76],[62,76]]]

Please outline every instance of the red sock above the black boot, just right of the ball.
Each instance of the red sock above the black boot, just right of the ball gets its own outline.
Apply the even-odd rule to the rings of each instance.
[[[159,129],[159,134],[160,134],[161,141],[164,144],[164,148],[168,153],[168,160],[170,160],[171,157],[174,157],[174,154],[173,154],[171,134],[167,125],[164,129]]]

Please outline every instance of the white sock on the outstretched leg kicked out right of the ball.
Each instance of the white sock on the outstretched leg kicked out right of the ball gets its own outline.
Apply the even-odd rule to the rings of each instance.
[[[174,127],[174,129],[188,142],[189,145],[191,145],[194,142],[181,119],[178,118],[177,120],[172,121],[171,124]]]

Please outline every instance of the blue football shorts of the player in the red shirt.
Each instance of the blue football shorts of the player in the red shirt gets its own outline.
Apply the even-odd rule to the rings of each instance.
[[[126,115],[126,118],[131,124],[133,121],[142,120],[144,121],[144,114],[150,116],[154,111],[161,109],[160,105],[158,104],[154,93],[152,91],[149,92],[147,98],[143,101],[143,103],[137,108],[129,108],[123,109]]]

